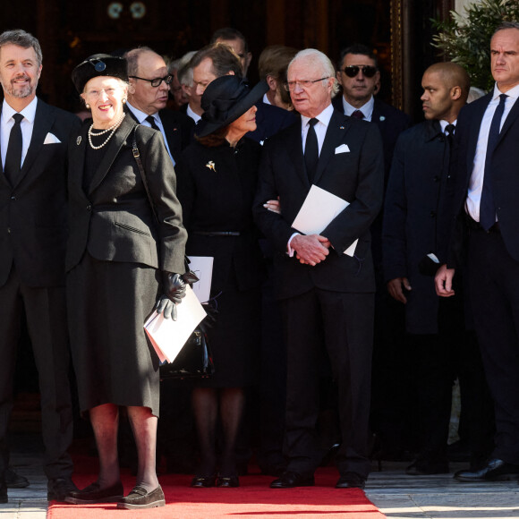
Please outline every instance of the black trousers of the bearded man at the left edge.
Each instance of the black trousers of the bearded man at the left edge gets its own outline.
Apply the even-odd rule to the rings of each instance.
[[[72,475],[72,404],[64,286],[23,285],[12,269],[0,287],[0,468],[9,463],[7,428],[13,409],[13,375],[23,309],[38,368],[44,469],[48,479]],[[1,465],[4,465],[2,467]]]

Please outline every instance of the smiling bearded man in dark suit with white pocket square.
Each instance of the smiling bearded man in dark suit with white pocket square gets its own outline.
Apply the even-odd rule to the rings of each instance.
[[[72,441],[69,347],[64,299],[66,149],[80,126],[72,114],[36,97],[38,40],[23,30],[0,36],[0,501],[7,500],[7,425],[23,311],[38,368],[48,498],[75,486],[67,448]]]

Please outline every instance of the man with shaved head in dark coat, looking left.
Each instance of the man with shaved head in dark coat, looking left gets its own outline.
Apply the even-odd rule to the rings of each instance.
[[[446,257],[450,236],[451,142],[469,86],[469,76],[459,64],[433,64],[425,71],[421,101],[426,120],[398,139],[387,185],[384,274],[388,293],[405,305],[413,394],[418,400],[420,452],[407,468],[412,475],[448,472],[446,449],[458,358],[464,403],[475,417],[469,420],[476,426],[469,432],[472,463],[481,463],[491,447],[491,405],[478,345],[464,330],[463,295],[440,301],[433,278],[438,259]],[[474,408],[480,413],[473,413]],[[480,440],[485,432],[486,438]]]

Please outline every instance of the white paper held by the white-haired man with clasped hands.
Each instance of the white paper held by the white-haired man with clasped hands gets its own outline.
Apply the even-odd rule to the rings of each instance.
[[[317,185],[312,185],[292,227],[302,234],[321,234],[328,224],[349,205],[350,202]],[[358,241],[355,240],[344,253],[353,256]]]

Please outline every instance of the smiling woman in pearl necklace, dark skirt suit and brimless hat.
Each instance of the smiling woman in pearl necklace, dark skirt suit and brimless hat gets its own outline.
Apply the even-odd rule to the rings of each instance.
[[[126,74],[126,60],[109,55],[91,56],[72,72],[93,121],[72,136],[69,150],[67,306],[81,412],[92,423],[99,475],[66,500],[146,508],[164,506],[165,499],[155,468],[158,358],[143,323],[157,296],[165,294],[157,307],[165,317],[183,296],[183,279],[175,273],[184,271],[186,232],[162,136],[124,113]],[[139,461],[137,485],[126,498],[117,459],[121,406]]]

